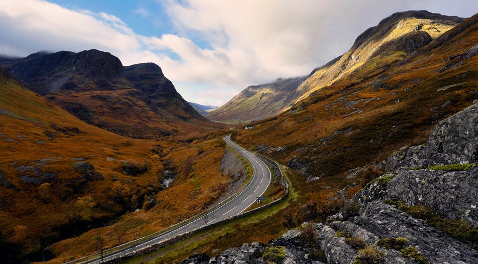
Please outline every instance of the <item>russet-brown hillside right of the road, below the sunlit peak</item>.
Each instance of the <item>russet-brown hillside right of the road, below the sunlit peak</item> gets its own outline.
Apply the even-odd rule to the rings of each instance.
[[[300,171],[306,196],[357,189],[376,161],[425,142],[436,122],[478,98],[477,22],[475,15],[404,59],[374,57],[236,140]],[[346,177],[354,171],[361,176]]]

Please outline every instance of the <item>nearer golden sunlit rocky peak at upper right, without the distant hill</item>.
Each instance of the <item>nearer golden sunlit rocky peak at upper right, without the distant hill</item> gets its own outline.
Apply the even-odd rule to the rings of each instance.
[[[351,74],[377,55],[400,57],[427,45],[464,19],[428,11],[394,13],[357,37],[352,48],[325,72],[316,72],[297,89],[303,92],[298,102],[312,92]],[[400,54],[402,52],[403,54]]]

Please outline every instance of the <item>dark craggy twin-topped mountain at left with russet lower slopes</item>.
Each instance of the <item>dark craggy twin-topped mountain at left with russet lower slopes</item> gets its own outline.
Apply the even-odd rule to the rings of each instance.
[[[1,63],[30,90],[79,119],[136,138],[189,135],[220,125],[199,115],[153,63],[123,67],[110,53],[34,53]]]

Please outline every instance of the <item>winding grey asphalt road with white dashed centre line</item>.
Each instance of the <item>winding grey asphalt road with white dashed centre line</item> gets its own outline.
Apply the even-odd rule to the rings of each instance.
[[[252,180],[250,181],[249,185],[235,198],[227,202],[226,204],[222,205],[221,207],[217,208],[216,210],[208,213],[207,216],[200,217],[193,222],[180,226],[176,229],[169,231],[168,233],[158,235],[157,237],[153,237],[148,241],[142,241],[136,245],[132,245],[128,248],[122,249],[119,252],[114,252],[111,254],[106,255],[103,260],[107,261],[109,259],[119,257],[120,255],[125,255],[130,252],[145,248],[150,245],[157,244],[163,240],[173,238],[179,234],[183,234],[186,232],[191,232],[197,228],[201,228],[205,225],[212,224],[214,222],[227,219],[232,216],[236,216],[247,208],[249,208],[252,204],[257,202],[257,197],[262,196],[265,190],[270,184],[271,180],[271,173],[267,165],[265,165],[262,160],[255,157],[249,151],[243,149],[238,144],[231,141],[231,136],[226,136],[223,138],[229,145],[235,148],[241,155],[243,155],[251,164],[254,169],[254,174]],[[186,202],[186,201],[185,201]],[[93,259],[84,263],[101,263],[99,259]]]

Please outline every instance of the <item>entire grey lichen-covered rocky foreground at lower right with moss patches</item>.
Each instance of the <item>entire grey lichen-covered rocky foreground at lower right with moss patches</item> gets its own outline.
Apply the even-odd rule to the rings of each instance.
[[[402,148],[326,224],[304,223],[268,244],[183,264],[478,263],[478,100]],[[418,167],[416,167],[418,165]]]

